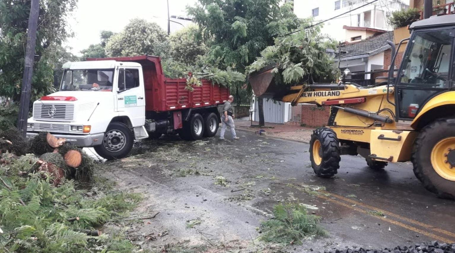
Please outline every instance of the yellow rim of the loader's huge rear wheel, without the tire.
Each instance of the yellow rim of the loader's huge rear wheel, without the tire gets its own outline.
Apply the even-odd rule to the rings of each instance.
[[[442,139],[433,147],[431,165],[441,177],[455,181],[455,137]]]

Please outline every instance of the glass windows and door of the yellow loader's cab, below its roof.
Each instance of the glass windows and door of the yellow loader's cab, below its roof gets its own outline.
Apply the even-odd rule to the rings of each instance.
[[[398,114],[413,119],[433,94],[450,88],[453,29],[416,32],[408,42],[398,76]]]

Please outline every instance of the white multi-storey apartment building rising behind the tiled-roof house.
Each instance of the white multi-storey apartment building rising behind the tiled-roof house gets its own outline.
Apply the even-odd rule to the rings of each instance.
[[[313,17],[315,22],[327,20],[322,32],[340,42],[364,40],[377,33],[393,30],[388,16],[395,10],[408,8],[401,0],[294,0],[294,13],[300,18]],[[367,5],[365,5],[367,4]],[[365,5],[359,9],[359,6]],[[356,10],[354,10],[356,9]]]

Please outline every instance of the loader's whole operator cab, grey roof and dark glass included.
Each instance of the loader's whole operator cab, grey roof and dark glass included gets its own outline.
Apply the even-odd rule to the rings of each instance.
[[[412,121],[426,101],[454,87],[455,15],[414,22],[396,78],[396,115]]]

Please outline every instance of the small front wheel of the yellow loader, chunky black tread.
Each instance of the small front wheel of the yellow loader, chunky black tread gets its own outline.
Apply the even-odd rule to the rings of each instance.
[[[311,167],[318,177],[333,177],[339,169],[340,147],[336,133],[328,127],[313,131],[310,141]]]

